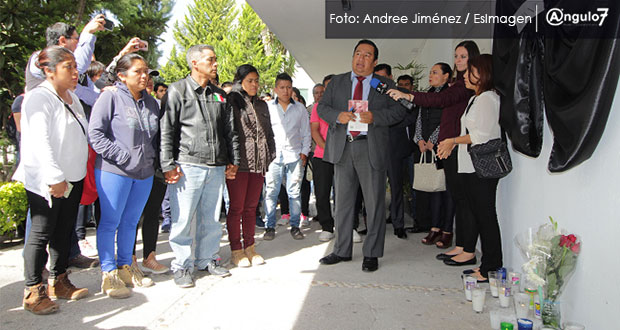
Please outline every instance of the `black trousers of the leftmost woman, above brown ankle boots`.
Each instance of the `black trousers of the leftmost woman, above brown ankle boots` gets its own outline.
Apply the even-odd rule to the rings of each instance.
[[[24,246],[24,272],[26,286],[41,283],[41,273],[47,263],[49,244],[50,278],[67,271],[71,233],[75,228],[77,209],[82,198],[84,180],[71,182],[69,198],[52,197],[52,207],[42,196],[26,190],[32,227]]]

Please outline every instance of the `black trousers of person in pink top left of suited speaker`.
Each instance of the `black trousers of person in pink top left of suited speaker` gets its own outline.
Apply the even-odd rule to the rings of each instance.
[[[316,197],[316,219],[324,231],[333,233],[334,218],[329,200],[334,183],[334,165],[324,162],[322,158],[313,157],[312,181],[314,181],[314,195]]]

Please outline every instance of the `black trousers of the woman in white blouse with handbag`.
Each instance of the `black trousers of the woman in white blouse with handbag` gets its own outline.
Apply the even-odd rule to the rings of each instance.
[[[490,270],[502,267],[502,239],[495,211],[495,197],[499,179],[482,179],[476,173],[463,176],[467,192],[467,206],[474,215],[482,243],[480,274],[487,277]],[[467,251],[467,247],[465,249]]]

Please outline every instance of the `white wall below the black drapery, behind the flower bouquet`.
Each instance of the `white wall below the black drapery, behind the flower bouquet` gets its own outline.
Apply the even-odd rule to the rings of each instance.
[[[586,329],[618,329],[614,319],[620,314],[619,94],[589,160],[570,171],[551,174],[547,162],[553,141],[545,125],[541,156],[530,158],[513,152],[513,172],[500,180],[498,189],[506,267],[521,270],[524,263],[513,242],[515,234],[545,223],[548,216],[583,241],[577,269],[561,301],[563,320],[582,323]]]

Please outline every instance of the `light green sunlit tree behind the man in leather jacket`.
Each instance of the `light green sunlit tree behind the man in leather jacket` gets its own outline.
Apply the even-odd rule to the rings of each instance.
[[[278,73],[294,71],[293,57],[247,3],[239,14],[234,0],[196,0],[185,22],[175,25],[174,36],[178,47],[162,69],[169,82],[190,72],[185,54],[196,44],[214,47],[220,82],[232,81],[237,67],[249,63],[260,73],[262,89],[269,90]]]

